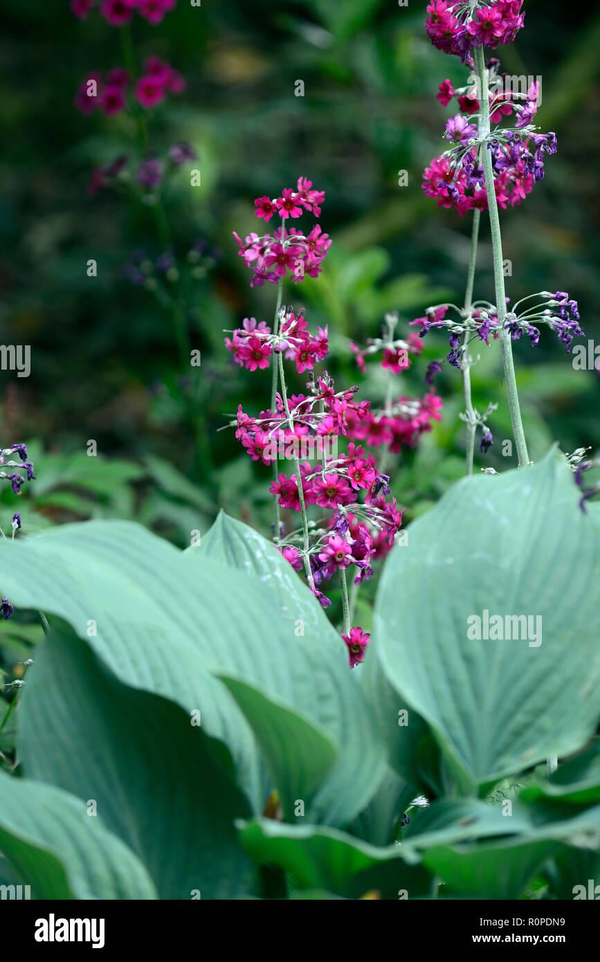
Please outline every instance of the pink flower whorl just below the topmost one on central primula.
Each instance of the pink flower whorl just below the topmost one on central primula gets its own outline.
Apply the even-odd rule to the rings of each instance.
[[[273,352],[284,351],[288,361],[295,361],[299,374],[312,370],[317,361],[322,361],[329,350],[327,327],[317,328],[318,333],[309,333],[303,311],[294,315],[292,311],[282,314],[280,333],[271,334],[264,321],[257,324],[255,317],[244,317],[242,327],[233,331],[233,338],[225,338],[225,345],[231,351],[240,367],[248,370],[269,367]]]

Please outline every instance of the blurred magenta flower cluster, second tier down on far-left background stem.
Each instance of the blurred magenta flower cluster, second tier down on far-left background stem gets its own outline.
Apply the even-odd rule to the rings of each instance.
[[[143,70],[135,85],[129,71],[121,66],[113,67],[105,77],[97,71],[88,73],[75,94],[75,107],[81,114],[100,110],[112,116],[127,110],[132,92],[137,103],[149,110],[160,104],[167,93],[182,93],[186,89],[182,74],[159,57],[149,57]]]

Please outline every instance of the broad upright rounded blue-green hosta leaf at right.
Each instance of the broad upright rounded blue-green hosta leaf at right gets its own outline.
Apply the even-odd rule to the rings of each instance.
[[[598,720],[600,540],[578,500],[552,451],[527,470],[463,479],[387,559],[375,620],[387,677],[462,782],[572,752]],[[533,631],[472,640],[486,611],[503,625],[532,616]]]

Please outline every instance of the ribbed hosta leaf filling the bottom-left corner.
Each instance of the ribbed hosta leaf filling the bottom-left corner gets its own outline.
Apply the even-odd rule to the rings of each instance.
[[[143,865],[86,804],[0,772],[0,848],[35,899],[156,899]]]

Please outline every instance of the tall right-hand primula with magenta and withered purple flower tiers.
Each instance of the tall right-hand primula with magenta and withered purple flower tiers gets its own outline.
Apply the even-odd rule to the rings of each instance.
[[[502,88],[504,76],[500,73],[500,61],[491,58],[486,62],[485,59],[486,47],[495,50],[499,43],[506,44],[514,39],[523,26],[521,7],[520,0],[499,0],[477,9],[467,2],[434,0],[427,8],[426,31],[434,46],[446,54],[460,56],[471,73],[468,83],[460,89],[453,89],[450,80],[439,85],[437,99],[440,103],[446,107],[457,96],[461,113],[446,122],[443,136],[452,146],[426,167],[423,190],[436,198],[437,206],[454,207],[460,215],[473,212],[473,226],[462,307],[435,305],[428,309],[425,317],[412,323],[419,325],[420,337],[432,328],[444,327],[450,332],[450,351],[446,361],[462,371],[465,411],[461,417],[467,425],[467,474],[473,470],[478,426],[483,430],[482,452],[487,452],[492,443],[486,421],[493,411],[490,407],[485,415],[481,415],[473,408],[469,343],[489,344],[490,337],[500,341],[512,434],[518,465],[523,468],[529,464],[529,454],[516,389],[512,341],[526,336],[536,346],[539,341],[537,324],[546,324],[554,330],[566,344],[567,351],[574,337],[584,335],[577,302],[566,292],[540,291],[521,298],[513,307],[510,307],[510,298],[505,292],[498,207],[520,204],[543,177],[545,156],[557,151],[556,134],[538,133],[532,122],[537,112],[539,82],[532,83],[526,93],[499,92],[498,86]],[[502,121],[507,120],[509,124],[501,126]],[[473,300],[480,215],[486,210],[491,230],[495,304],[488,300]]]

